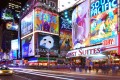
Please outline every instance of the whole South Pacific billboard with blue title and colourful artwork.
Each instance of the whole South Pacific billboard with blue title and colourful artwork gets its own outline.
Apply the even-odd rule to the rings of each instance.
[[[90,7],[90,44],[98,44],[108,38],[114,38],[118,29],[117,0],[96,0]]]

